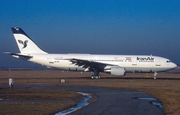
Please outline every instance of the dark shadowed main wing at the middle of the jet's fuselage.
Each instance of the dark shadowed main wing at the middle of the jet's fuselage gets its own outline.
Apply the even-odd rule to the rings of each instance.
[[[77,66],[82,66],[83,68],[90,68],[90,69],[97,68],[97,69],[101,70],[101,69],[104,69],[106,66],[114,66],[112,64],[91,61],[91,60],[85,60],[85,59],[72,58],[69,60]]]

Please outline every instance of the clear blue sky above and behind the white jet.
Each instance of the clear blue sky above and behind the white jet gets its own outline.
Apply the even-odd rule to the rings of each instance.
[[[0,52],[21,27],[48,53],[156,55],[180,64],[179,0],[1,0]],[[0,67],[38,67],[0,53]]]

